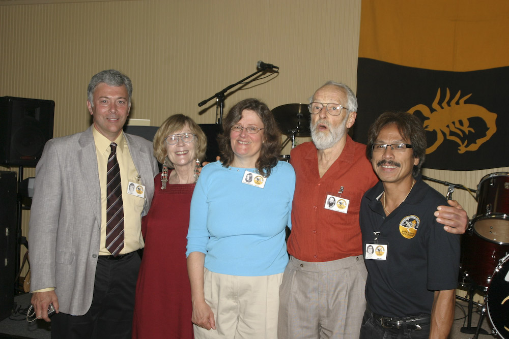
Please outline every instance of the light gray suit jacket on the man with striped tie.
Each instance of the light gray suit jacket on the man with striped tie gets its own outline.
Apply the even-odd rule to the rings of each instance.
[[[60,311],[72,315],[90,309],[101,238],[101,188],[92,128],[46,143],[36,167],[30,217],[31,289],[55,286]],[[151,142],[125,137],[145,185],[145,215],[159,172],[157,161]]]

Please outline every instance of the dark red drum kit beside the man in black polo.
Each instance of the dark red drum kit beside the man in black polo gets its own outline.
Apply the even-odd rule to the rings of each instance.
[[[484,176],[476,200],[477,212],[461,240],[460,283],[469,286],[470,295],[468,327],[461,331],[477,338],[488,314],[492,334],[509,339],[509,173]],[[471,328],[476,290],[485,297],[478,325]]]

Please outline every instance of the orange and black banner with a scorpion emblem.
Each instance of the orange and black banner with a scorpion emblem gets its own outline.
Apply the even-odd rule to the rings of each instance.
[[[509,2],[363,0],[354,139],[387,110],[417,115],[424,167],[509,166]]]

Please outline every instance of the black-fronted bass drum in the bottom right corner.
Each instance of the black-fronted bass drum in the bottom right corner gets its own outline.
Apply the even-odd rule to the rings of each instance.
[[[509,254],[493,272],[487,296],[488,317],[497,334],[509,339]]]

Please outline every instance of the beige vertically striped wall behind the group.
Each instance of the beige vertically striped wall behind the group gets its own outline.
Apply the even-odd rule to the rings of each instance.
[[[231,90],[225,112],[249,97],[271,108],[305,103],[327,80],[355,90],[359,23],[358,0],[0,6],[0,96],[54,100],[54,136],[76,133],[90,124],[90,77],[116,68],[133,80],[131,117],[158,126],[171,114],[185,113],[213,123],[214,101],[202,108],[197,103],[253,73],[258,60],[279,66],[279,74]],[[475,188],[493,171],[425,174]],[[473,215],[475,201],[461,192],[456,197]]]

